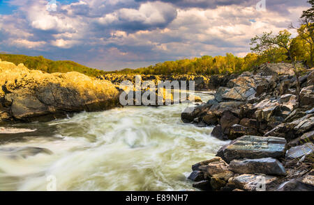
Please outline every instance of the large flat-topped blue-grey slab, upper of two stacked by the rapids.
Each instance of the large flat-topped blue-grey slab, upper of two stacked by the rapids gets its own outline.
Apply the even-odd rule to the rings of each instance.
[[[243,136],[221,147],[216,154],[227,163],[241,158],[279,158],[285,154],[285,138]]]

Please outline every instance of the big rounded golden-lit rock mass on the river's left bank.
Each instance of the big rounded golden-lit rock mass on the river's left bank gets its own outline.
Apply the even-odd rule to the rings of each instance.
[[[52,120],[67,112],[117,106],[119,90],[109,81],[78,72],[47,74],[0,62],[0,119]]]

